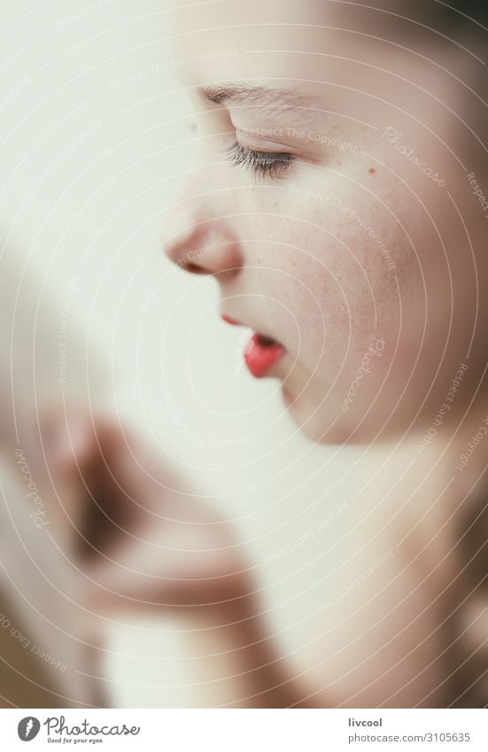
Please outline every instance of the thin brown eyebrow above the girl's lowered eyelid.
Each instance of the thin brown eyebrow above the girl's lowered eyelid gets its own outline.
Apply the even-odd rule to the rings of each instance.
[[[198,91],[215,105],[229,103],[267,107],[270,109],[290,110],[305,107],[310,100],[298,89],[281,89],[270,86],[249,86],[243,83],[219,83],[213,86],[201,86]]]

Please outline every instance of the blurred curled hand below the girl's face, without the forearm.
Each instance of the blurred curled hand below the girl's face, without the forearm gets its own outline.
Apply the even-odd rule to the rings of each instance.
[[[105,416],[43,422],[50,474],[65,490],[73,562],[99,608],[203,606],[252,586],[240,547],[163,452]]]

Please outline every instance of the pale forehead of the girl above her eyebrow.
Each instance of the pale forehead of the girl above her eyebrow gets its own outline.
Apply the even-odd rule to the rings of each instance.
[[[380,3],[376,3],[381,5]],[[377,65],[406,21],[396,12],[337,0],[210,0],[169,13],[174,58],[182,81],[287,79],[353,82],[356,58]]]

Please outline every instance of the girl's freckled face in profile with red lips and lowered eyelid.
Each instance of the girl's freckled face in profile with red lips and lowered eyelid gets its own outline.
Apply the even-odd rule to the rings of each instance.
[[[423,432],[457,379],[447,425],[487,354],[466,59],[447,69],[436,35],[383,16],[303,2],[178,12],[199,157],[167,252],[216,276],[221,314],[274,341],[255,338],[248,365],[280,379],[317,441]]]

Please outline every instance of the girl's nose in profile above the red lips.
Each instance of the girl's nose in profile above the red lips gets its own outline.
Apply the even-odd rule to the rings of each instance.
[[[182,202],[182,205],[187,202]],[[191,274],[228,279],[243,266],[243,252],[226,217],[205,218],[182,205],[164,243],[167,257]]]

